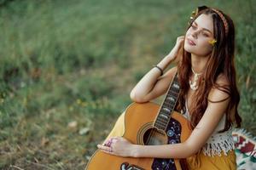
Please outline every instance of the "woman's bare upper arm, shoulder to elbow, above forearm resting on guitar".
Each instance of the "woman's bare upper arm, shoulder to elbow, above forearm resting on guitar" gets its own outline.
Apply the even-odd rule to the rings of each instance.
[[[186,141],[190,146],[190,150],[198,151],[206,144],[207,139],[218,127],[218,123],[227,111],[230,94],[226,93],[222,88],[218,88],[218,86],[228,86],[229,88],[229,81],[223,75],[220,75],[216,83],[217,86],[212,87],[208,94],[208,105],[204,115]]]

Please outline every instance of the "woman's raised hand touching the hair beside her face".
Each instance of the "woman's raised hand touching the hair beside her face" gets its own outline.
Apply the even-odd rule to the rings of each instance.
[[[174,48],[172,48],[172,51],[167,54],[167,57],[169,57],[172,61],[178,62],[181,58],[181,53],[183,51],[183,42],[184,42],[184,36],[177,37],[176,44]]]

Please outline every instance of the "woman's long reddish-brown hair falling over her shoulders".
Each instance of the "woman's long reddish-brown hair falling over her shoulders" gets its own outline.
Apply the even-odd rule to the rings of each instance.
[[[195,98],[191,102],[190,112],[190,126],[192,129],[200,122],[201,117],[207,109],[208,96],[212,88],[218,88],[221,91],[230,95],[230,104],[227,108],[224,132],[236,122],[237,127],[241,127],[241,116],[238,115],[237,106],[240,101],[240,94],[236,87],[236,70],[234,64],[235,53],[235,26],[230,17],[224,14],[221,10],[218,11],[224,15],[224,19],[228,23],[228,33],[225,34],[224,22],[220,16],[212,10],[212,8],[205,8],[195,15],[191,20],[189,27],[193,21],[201,14],[211,14],[213,20],[213,33],[217,42],[212,48],[212,54],[207,61],[204,73],[199,78],[199,88],[195,91]],[[188,27],[188,29],[189,29]],[[184,111],[186,94],[189,91],[189,77],[191,72],[191,54],[183,49],[182,59],[177,65],[178,79],[181,85],[181,94],[178,101],[178,108]],[[222,74],[229,82],[229,85],[220,86],[216,83],[218,76]],[[214,101],[216,102],[216,101]],[[221,102],[221,101],[217,101]]]

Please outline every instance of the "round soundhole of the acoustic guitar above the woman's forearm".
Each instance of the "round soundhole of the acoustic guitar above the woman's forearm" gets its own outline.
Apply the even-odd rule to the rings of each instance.
[[[166,144],[167,138],[166,135],[156,128],[149,128],[143,135],[143,143],[145,145],[160,145]]]

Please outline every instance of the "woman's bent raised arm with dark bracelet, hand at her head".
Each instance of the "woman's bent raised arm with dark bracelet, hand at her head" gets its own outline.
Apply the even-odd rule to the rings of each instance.
[[[182,42],[183,36],[177,37],[175,47],[172,48],[172,51],[158,64],[163,71],[168,65],[170,65],[170,63],[172,63],[173,60],[177,59],[177,53],[181,48]],[[131,90],[131,99],[135,102],[143,103],[164,94],[169,87],[176,70],[177,68],[174,67],[160,77],[159,69],[155,67],[152,68]]]

